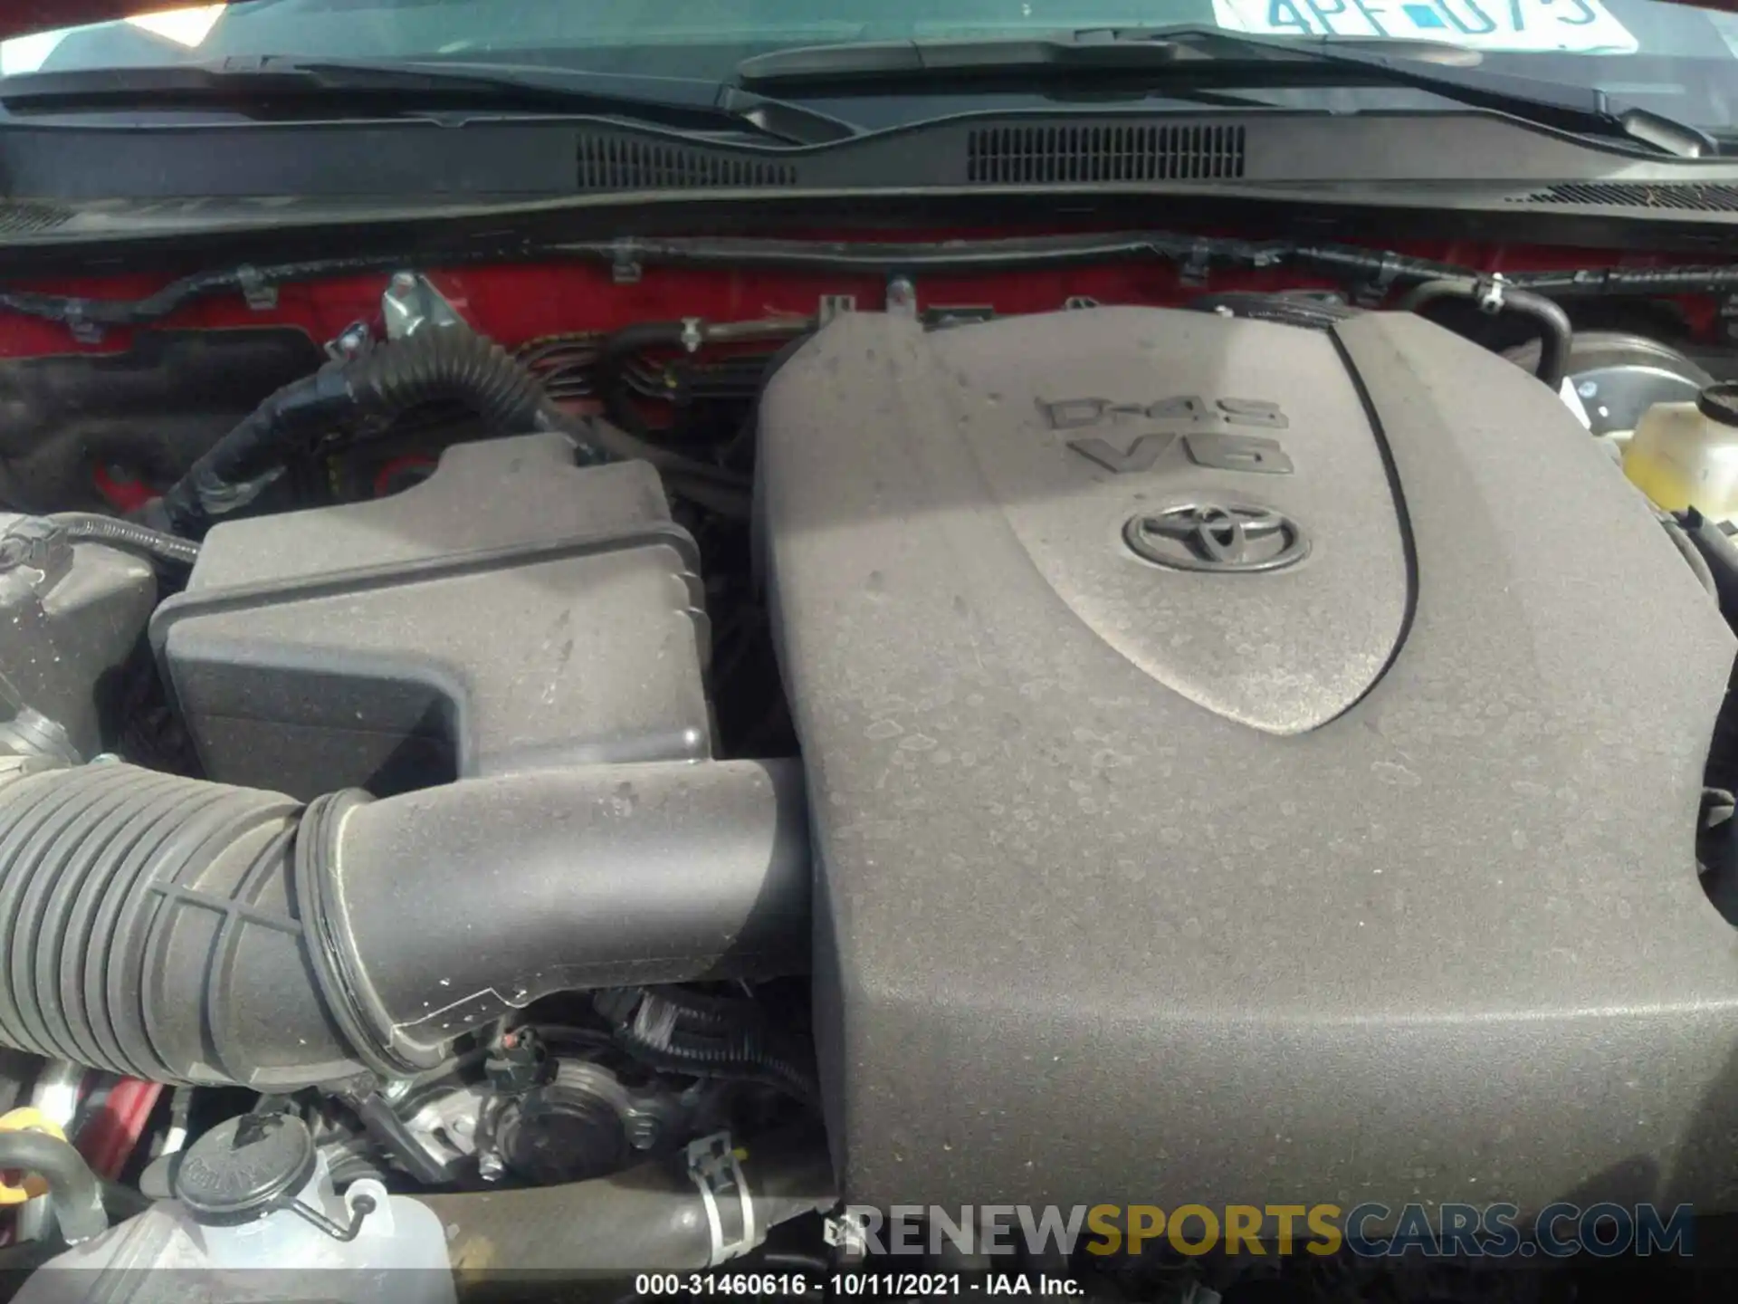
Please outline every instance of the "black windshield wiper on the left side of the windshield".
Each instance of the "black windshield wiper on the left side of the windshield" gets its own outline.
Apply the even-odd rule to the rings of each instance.
[[[167,68],[104,68],[0,78],[9,111],[337,108],[594,113],[695,130],[747,130],[793,144],[831,144],[859,129],[831,113],[730,82],[634,77],[537,64],[348,59],[222,59]]]

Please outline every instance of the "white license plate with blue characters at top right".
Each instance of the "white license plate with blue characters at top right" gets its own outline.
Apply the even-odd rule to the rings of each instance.
[[[1213,0],[1227,31],[1272,37],[1401,37],[1476,50],[1635,54],[1599,0]]]

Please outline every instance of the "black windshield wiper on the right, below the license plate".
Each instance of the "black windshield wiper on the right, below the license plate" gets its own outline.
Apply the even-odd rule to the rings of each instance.
[[[1399,38],[1338,42],[1166,26],[1039,38],[810,45],[746,59],[737,66],[737,80],[747,87],[815,89],[834,96],[916,89],[933,94],[942,87],[970,94],[1069,82],[1166,94],[1192,87],[1389,85],[1427,90],[1559,130],[1639,141],[1684,158],[1719,153],[1714,137],[1702,129],[1595,87],[1493,73],[1446,61],[1434,42]]]

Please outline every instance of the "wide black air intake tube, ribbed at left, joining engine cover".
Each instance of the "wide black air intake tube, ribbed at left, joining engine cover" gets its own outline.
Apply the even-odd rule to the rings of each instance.
[[[0,784],[0,1043],[262,1092],[401,1076],[553,991],[801,974],[796,762],[384,802],[87,765]]]

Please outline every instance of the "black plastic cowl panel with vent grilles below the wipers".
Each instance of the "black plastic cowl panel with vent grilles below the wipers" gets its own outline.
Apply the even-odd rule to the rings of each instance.
[[[1140,137],[1142,130],[1149,136]],[[1010,143],[1017,148],[1010,150]],[[991,156],[1015,162],[991,163]],[[478,202],[636,184],[690,190],[695,183],[720,190],[765,184],[1116,190],[1131,183],[1232,177],[1270,186],[1502,184],[1526,198],[1559,183],[1606,181],[1618,169],[1625,183],[1637,186],[1738,186],[1735,162],[1667,160],[1483,111],[970,113],[819,146],[704,141],[607,118],[494,118],[459,127],[9,123],[0,130],[0,167],[16,196],[61,202],[198,196],[186,200],[189,205],[285,195]]]

